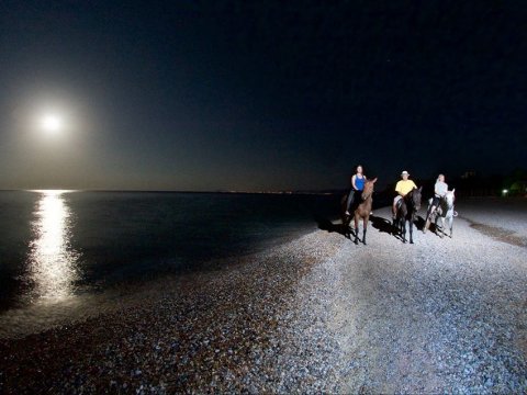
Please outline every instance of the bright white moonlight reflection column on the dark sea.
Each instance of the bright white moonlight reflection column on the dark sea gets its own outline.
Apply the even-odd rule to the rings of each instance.
[[[31,297],[41,303],[64,301],[74,295],[79,253],[70,246],[71,211],[64,194],[68,191],[37,191],[32,224],[35,238],[30,244],[29,281]]]

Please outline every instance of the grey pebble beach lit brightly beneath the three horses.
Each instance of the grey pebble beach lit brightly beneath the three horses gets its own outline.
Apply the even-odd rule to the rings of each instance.
[[[149,283],[114,313],[0,340],[0,392],[526,393],[527,204],[512,205],[462,202],[453,238],[414,245],[381,208],[368,246],[335,222]]]

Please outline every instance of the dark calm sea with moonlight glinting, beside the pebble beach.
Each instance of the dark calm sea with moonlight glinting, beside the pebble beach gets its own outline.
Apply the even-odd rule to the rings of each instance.
[[[314,232],[338,217],[340,198],[1,191],[0,337],[82,317],[97,309],[90,304],[119,303],[104,301],[109,290],[199,275]]]

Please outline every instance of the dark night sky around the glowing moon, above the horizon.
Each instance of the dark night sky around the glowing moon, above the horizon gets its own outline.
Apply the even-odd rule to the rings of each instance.
[[[526,168],[524,1],[2,1],[0,189]],[[38,119],[60,116],[56,135]]]

